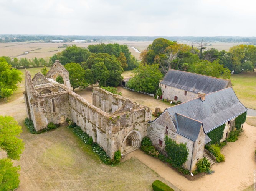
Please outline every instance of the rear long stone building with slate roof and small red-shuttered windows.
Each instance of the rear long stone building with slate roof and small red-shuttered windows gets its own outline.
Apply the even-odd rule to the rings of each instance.
[[[227,87],[231,81],[201,74],[169,69],[164,79],[159,83],[162,98],[173,102],[197,98],[198,92],[210,94]]]

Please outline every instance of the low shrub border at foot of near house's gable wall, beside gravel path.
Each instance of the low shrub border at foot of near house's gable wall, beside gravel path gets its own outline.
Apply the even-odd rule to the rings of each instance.
[[[167,162],[170,164],[173,168],[176,168],[178,172],[183,173],[185,175],[189,175],[189,170],[183,168],[181,165],[176,165],[169,157],[166,157],[165,155],[161,154],[153,145],[152,141],[149,137],[145,136],[141,141],[141,150],[146,152],[148,155],[152,157],[159,158],[162,162]]]

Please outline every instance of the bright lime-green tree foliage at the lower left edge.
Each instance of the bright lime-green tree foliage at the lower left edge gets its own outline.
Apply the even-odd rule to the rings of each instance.
[[[7,153],[7,158],[0,159],[0,190],[14,190],[19,186],[20,166],[14,167],[12,160],[19,160],[24,150],[24,143],[18,138],[21,129],[12,117],[0,116],[0,149]]]

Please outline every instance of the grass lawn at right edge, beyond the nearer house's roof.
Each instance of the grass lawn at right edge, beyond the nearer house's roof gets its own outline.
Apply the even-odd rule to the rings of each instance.
[[[245,107],[256,109],[256,72],[231,75],[233,89]]]

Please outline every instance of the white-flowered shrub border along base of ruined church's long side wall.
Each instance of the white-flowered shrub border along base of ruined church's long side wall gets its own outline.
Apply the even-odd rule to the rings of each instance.
[[[76,125],[76,123],[69,121],[68,119],[68,128],[73,128],[73,132],[87,145],[91,145],[92,152],[96,153],[99,156],[99,159],[107,165],[114,165],[119,163],[119,160],[121,159],[121,152],[116,151],[115,152],[115,160],[111,160],[109,156],[106,154],[104,149],[97,144],[97,142],[93,142],[93,139],[89,134],[82,131],[81,127]],[[120,153],[120,155],[119,155]]]

